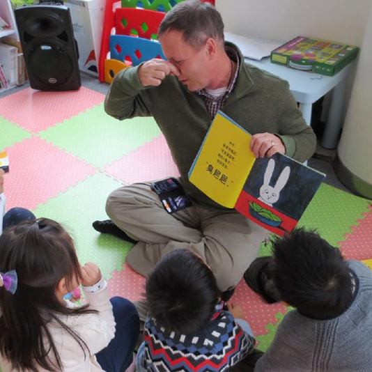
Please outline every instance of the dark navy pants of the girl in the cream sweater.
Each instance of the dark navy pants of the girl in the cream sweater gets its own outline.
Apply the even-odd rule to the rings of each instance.
[[[122,297],[112,297],[116,330],[114,339],[95,357],[107,372],[123,372],[133,362],[133,350],[139,335],[139,316],[134,304]]]

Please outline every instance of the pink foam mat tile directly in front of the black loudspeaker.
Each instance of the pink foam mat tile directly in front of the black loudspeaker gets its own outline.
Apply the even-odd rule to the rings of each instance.
[[[82,86],[78,91],[44,92],[26,88],[0,99],[1,116],[33,133],[102,103],[104,95]]]

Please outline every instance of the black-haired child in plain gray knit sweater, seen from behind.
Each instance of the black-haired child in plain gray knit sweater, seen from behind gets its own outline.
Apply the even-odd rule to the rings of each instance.
[[[255,372],[372,371],[372,272],[366,265],[345,261],[317,233],[297,229],[274,240],[272,257],[257,258],[248,270],[251,287],[272,297],[258,284],[263,272],[295,310],[284,316]]]

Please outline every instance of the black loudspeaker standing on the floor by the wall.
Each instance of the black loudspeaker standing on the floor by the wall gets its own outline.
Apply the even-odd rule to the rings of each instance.
[[[66,6],[36,5],[15,9],[31,88],[40,91],[79,89],[77,44]]]

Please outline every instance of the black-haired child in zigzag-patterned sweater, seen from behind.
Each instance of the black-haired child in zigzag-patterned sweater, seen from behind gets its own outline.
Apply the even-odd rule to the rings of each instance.
[[[228,371],[254,349],[238,305],[224,310],[215,276],[186,249],[166,254],[146,280],[149,316],[137,371]]]

